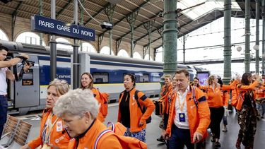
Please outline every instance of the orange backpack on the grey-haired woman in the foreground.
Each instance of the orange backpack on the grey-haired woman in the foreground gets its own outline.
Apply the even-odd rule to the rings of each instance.
[[[98,142],[100,141],[100,138],[104,135],[107,135],[106,138],[111,135],[116,136],[123,149],[147,149],[146,143],[139,141],[137,138],[132,138],[129,136],[120,136],[111,131],[110,129],[106,129],[100,133],[100,135],[95,141],[94,149],[97,149]]]

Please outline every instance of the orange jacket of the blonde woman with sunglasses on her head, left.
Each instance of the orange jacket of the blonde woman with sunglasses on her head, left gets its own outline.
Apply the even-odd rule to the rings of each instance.
[[[30,146],[30,148],[37,148],[40,145],[43,145],[42,142],[42,131],[44,129],[45,123],[49,117],[49,114],[52,112],[51,109],[45,109],[42,113],[42,120],[40,121],[40,136],[38,136],[37,138],[35,138],[35,140],[30,141],[30,143],[28,143],[28,145]],[[52,123],[55,121],[55,119],[57,119],[56,115],[52,116]],[[57,120],[57,123],[54,124],[54,126],[52,127],[52,132],[50,133],[50,144],[52,145],[56,145],[59,148],[67,148],[68,143],[70,141],[70,137],[68,136],[68,134],[66,133],[65,129],[63,129],[64,126],[64,121],[59,118]],[[59,131],[57,131],[59,130]]]

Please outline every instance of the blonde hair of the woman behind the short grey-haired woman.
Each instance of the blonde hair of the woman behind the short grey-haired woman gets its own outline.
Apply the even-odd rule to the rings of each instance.
[[[48,88],[51,86],[55,86],[57,93],[64,95],[69,90],[69,84],[65,80],[60,80],[58,78],[55,78],[53,81],[51,81],[48,85]]]

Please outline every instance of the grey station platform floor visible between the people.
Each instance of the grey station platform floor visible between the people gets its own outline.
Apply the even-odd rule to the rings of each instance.
[[[118,110],[118,104],[110,104],[109,106],[109,112],[105,121],[105,124],[107,124],[107,121],[115,122],[117,121],[117,110]],[[41,114],[41,113],[39,113]],[[32,129],[29,134],[28,141],[33,140],[36,138],[40,133],[40,118],[37,117],[38,114],[34,115],[25,115],[23,117],[18,117],[18,119],[23,119],[24,121],[27,121],[28,123],[32,124]],[[156,116],[154,113],[152,114],[152,122],[147,125],[146,129],[146,143],[148,144],[148,148],[150,149],[166,149],[166,145],[164,143],[160,143],[156,141],[156,138],[158,138],[161,134],[161,130],[158,127],[160,123],[161,118]],[[220,124],[220,128],[223,128],[223,123]],[[208,129],[208,132],[210,130]],[[221,148],[223,149],[232,149],[235,148],[235,142],[237,139],[237,134],[239,131],[239,126],[237,124],[237,114],[235,110],[230,112],[230,115],[228,117],[228,132],[221,131],[220,133],[220,143]],[[257,133],[254,140],[254,148],[255,149],[261,149],[265,146],[265,119],[261,119],[257,121]],[[1,141],[0,141],[1,144]],[[18,149],[20,148],[20,145],[13,142],[8,149]],[[210,137],[206,139],[206,147],[205,149],[214,148],[214,144],[210,141]],[[242,148],[244,146],[242,145]]]

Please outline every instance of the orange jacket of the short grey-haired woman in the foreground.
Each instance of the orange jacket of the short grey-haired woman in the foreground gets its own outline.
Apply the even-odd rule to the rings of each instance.
[[[72,138],[69,142],[69,149],[83,149],[83,148],[94,148],[95,141],[102,131],[107,127],[102,124],[98,119],[95,119],[93,125],[86,132],[86,134],[76,141],[76,138]],[[102,136],[98,141],[98,148],[111,148],[111,149],[122,149],[122,145],[115,136]]]

